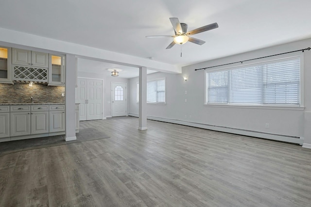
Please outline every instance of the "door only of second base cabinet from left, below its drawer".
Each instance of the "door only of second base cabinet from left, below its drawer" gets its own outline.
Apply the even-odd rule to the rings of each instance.
[[[11,112],[11,137],[30,134],[30,112]]]

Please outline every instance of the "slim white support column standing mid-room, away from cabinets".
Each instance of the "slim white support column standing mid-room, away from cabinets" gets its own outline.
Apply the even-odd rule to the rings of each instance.
[[[147,129],[147,68],[139,67],[138,129]]]

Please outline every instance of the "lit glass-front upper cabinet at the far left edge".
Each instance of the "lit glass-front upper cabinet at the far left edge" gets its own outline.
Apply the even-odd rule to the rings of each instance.
[[[12,83],[11,48],[0,46],[0,83]]]

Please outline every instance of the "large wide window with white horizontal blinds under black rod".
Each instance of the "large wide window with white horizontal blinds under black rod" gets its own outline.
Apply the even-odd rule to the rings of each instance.
[[[207,71],[207,104],[300,106],[300,57]]]

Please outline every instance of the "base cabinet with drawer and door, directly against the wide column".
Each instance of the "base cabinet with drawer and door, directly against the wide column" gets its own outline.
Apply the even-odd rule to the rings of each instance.
[[[65,105],[50,105],[50,133],[65,131]]]

